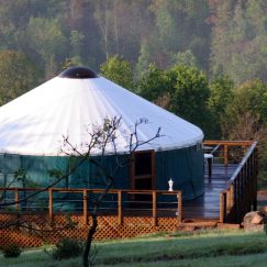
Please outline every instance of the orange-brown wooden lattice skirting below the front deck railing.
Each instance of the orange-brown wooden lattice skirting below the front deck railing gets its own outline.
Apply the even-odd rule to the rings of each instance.
[[[46,214],[0,214],[0,247],[16,243],[22,247],[36,247],[55,244],[60,238],[73,237],[85,240],[91,224],[88,225],[80,214],[55,214],[51,222]],[[113,240],[135,237],[140,235],[177,230],[179,222],[176,216],[158,218],[157,226],[151,216],[124,216],[123,224],[118,224],[118,216],[101,215],[94,240]]]

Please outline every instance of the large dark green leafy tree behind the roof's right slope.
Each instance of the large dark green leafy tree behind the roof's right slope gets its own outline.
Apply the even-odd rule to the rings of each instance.
[[[198,68],[177,65],[162,70],[151,64],[137,88],[142,97],[199,125],[208,136],[211,135],[210,88],[205,75]]]

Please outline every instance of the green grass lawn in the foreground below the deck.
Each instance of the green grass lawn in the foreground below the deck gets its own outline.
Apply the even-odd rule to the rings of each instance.
[[[202,231],[98,242],[97,266],[267,266],[267,235],[243,231]],[[47,249],[52,249],[48,247]],[[0,266],[81,266],[81,258],[54,260],[44,248],[19,258],[0,255]]]

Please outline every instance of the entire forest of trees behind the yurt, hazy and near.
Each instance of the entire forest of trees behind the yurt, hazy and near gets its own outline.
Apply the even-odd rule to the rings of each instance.
[[[267,170],[266,43],[265,0],[0,0],[0,105],[87,66]]]

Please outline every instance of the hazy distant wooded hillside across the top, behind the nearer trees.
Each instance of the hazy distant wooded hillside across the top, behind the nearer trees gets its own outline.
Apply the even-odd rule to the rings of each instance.
[[[266,10],[265,0],[0,0],[0,51],[23,53],[44,80],[114,55],[135,77],[155,63],[265,80]]]

